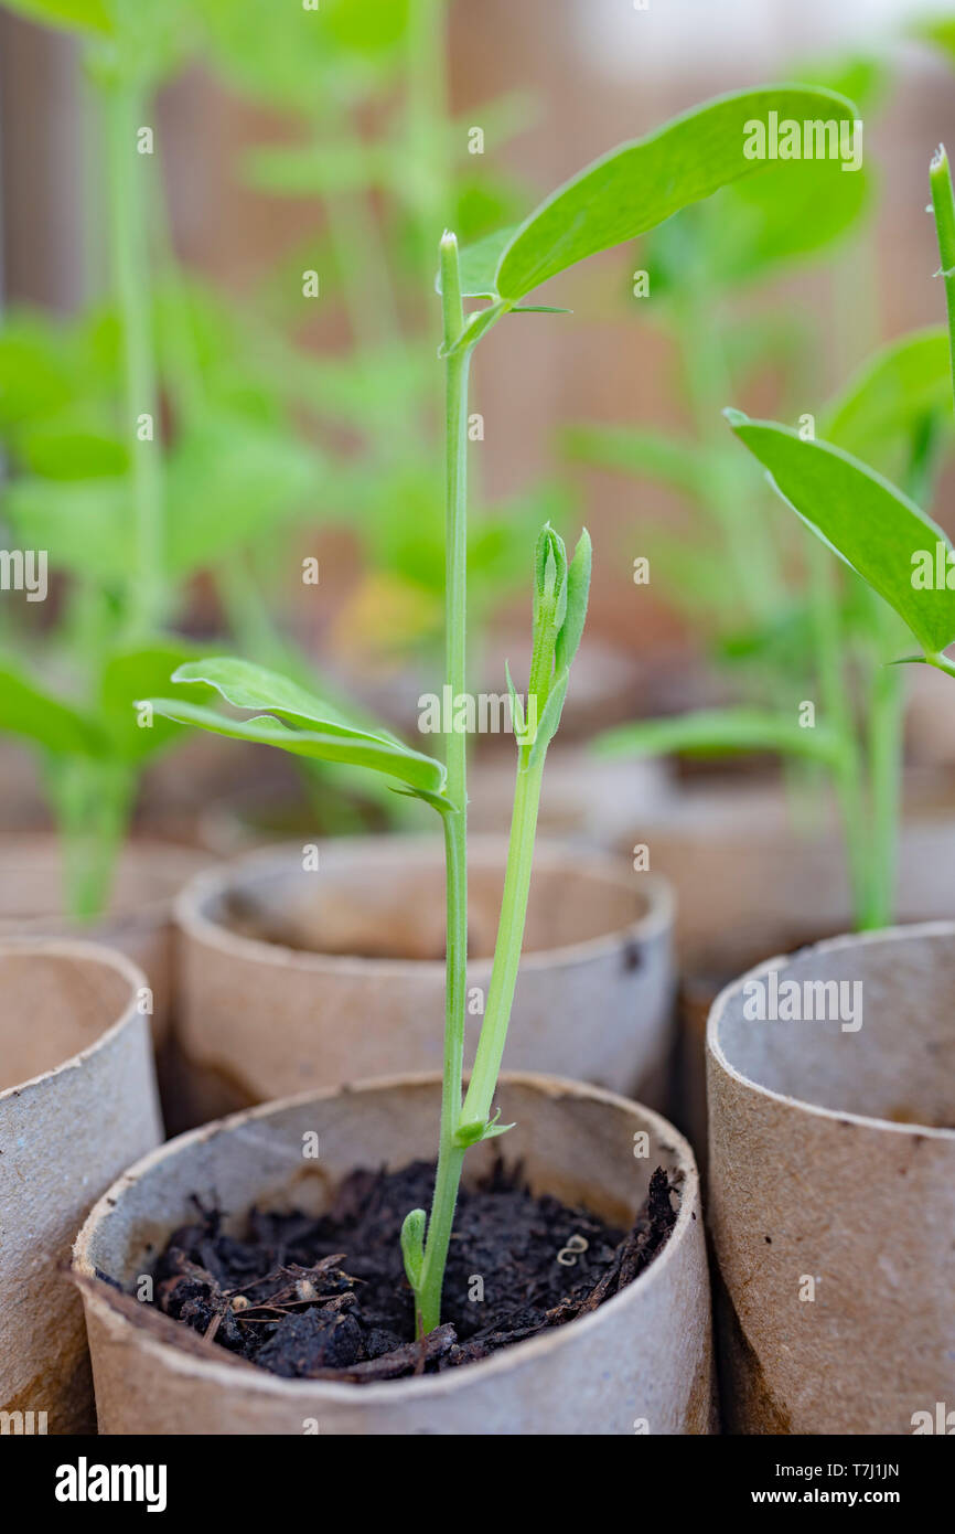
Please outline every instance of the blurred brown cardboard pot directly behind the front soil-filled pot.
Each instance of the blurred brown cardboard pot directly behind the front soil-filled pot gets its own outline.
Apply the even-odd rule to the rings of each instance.
[[[504,851],[484,838],[469,848],[469,1051],[491,979]],[[353,1077],[440,1069],[440,841],[334,839],[317,845],[317,870],[304,870],[302,845],[253,853],[193,881],[176,917],[175,1043],[193,1123]],[[506,1068],[541,1065],[662,1106],[670,927],[662,881],[541,844]]]

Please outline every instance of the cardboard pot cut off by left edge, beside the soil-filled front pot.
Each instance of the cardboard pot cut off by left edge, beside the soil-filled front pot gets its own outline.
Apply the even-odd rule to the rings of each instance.
[[[0,939],[0,1410],[92,1431],[64,1272],[104,1187],[162,1138],[143,973],[95,943]]]

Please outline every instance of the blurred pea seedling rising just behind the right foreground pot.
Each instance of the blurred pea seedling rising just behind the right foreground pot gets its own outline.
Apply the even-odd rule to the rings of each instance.
[[[912,489],[927,494],[949,393],[947,331],[929,327],[881,348],[828,405],[820,431],[843,453],[901,466]],[[797,431],[789,439],[802,442]],[[855,925],[883,927],[892,914],[903,709],[900,678],[884,661],[898,643],[898,623],[852,572],[837,584],[819,543],[809,540],[806,555],[793,644],[808,663],[797,686],[820,700],[811,724],[796,703],[805,692],[779,675],[777,695],[793,698],[789,710],[743,704],[638,719],[609,730],[595,749],[610,758],[770,752],[822,772],[838,801]]]

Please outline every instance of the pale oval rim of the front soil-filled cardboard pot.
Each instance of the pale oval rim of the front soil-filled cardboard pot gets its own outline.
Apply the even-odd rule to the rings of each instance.
[[[208,1124],[202,1124],[199,1129],[190,1129],[187,1134],[179,1135],[175,1140],[167,1140],[166,1144],[150,1150],[103,1193],[103,1197],[90,1209],[83,1227],[80,1229],[74,1244],[72,1272],[81,1285],[84,1302],[89,1307],[95,1307],[98,1319],[107,1330],[110,1330],[112,1335],[120,1335],[127,1328],[135,1327],[139,1333],[141,1347],[153,1358],[161,1359],[164,1367],[178,1373],[182,1379],[198,1378],[207,1381],[208,1384],[218,1384],[225,1390],[241,1388],[245,1393],[281,1396],[285,1399],[300,1396],[302,1399],[308,1397],[311,1402],[323,1401],[330,1407],[354,1404],[356,1401],[366,1402],[368,1407],[394,1407],[400,1404],[402,1397],[406,1396],[411,1396],[414,1401],[440,1399],[451,1391],[466,1387],[469,1381],[475,1381],[478,1378],[489,1379],[495,1374],[507,1374],[526,1362],[544,1358],[547,1351],[567,1347],[569,1338],[570,1342],[573,1342],[573,1339],[579,1342],[584,1335],[593,1333],[598,1327],[612,1325],[613,1319],[621,1313],[624,1305],[632,1307],[638,1304],[650,1289],[667,1281],[668,1270],[676,1261],[678,1247],[681,1247],[691,1235],[694,1224],[694,1206],[699,1207],[701,1204],[699,1174],[693,1150],[684,1135],[681,1135],[679,1131],[674,1129],[673,1124],[670,1124],[661,1114],[656,1114],[650,1108],[644,1108],[642,1103],[635,1103],[630,1098],[619,1097],[616,1092],[609,1092],[604,1088],[589,1086],[583,1081],[564,1080],[563,1077],[540,1075],[533,1071],[503,1071],[500,1080],[501,1085],[530,1088],[552,1098],[590,1098],[601,1101],[607,1104],[607,1108],[616,1109],[628,1117],[638,1118],[641,1127],[650,1127],[659,1138],[661,1147],[667,1150],[667,1154],[673,1155],[674,1164],[682,1172],[684,1181],[681,1186],[681,1207],[667,1244],[653,1258],[650,1266],[633,1279],[632,1284],[627,1284],[624,1290],[604,1301],[604,1304],[590,1315],[578,1316],[564,1327],[555,1327],[540,1336],[515,1342],[512,1347],[501,1348],[497,1355],[478,1359],[463,1368],[443,1370],[438,1374],[429,1374],[417,1379],[397,1379],[377,1385],[362,1385],[342,1381],[285,1379],[282,1376],[270,1374],[264,1368],[256,1368],[254,1365],[248,1370],[239,1371],[235,1364],[219,1364],[212,1358],[198,1358],[195,1353],[179,1348],[173,1342],[153,1336],[146,1327],[139,1327],[132,1316],[110,1305],[107,1296],[103,1293],[101,1282],[98,1284],[95,1281],[95,1264],[89,1256],[90,1241],[97,1227],[103,1221],[109,1220],[118,1207],[120,1200],[129,1186],[138,1181],[146,1172],[150,1172],[169,1155],[178,1155],[193,1146],[201,1146],[205,1140],[212,1140],[216,1135],[230,1134],[233,1129],[248,1123],[250,1120],[254,1121],[256,1118],[265,1118],[270,1114],[304,1103],[322,1101],[342,1094],[360,1097],[363,1092],[400,1091],[402,1088],[417,1088],[425,1085],[440,1089],[441,1077],[435,1071],[376,1077],[374,1080],[354,1081],[346,1086],[325,1088],[319,1092],[299,1092],[294,1097],[284,1097],[273,1103],[261,1103],[256,1108],[230,1114],[227,1118],[213,1120]]]

